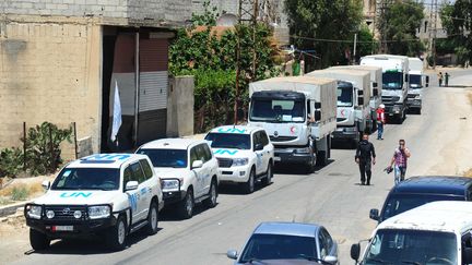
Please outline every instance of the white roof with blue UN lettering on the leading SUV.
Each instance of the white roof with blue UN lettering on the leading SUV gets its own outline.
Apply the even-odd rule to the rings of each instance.
[[[68,168],[120,168],[129,160],[146,158],[138,154],[95,154],[71,161]]]

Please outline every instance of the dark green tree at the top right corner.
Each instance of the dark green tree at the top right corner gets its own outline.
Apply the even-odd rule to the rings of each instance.
[[[464,65],[472,59],[472,2],[457,0],[453,5],[446,4],[441,8],[440,17],[449,35],[445,45],[453,49],[458,62]]]

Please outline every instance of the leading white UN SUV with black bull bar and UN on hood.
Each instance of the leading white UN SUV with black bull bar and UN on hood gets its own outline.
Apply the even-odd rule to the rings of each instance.
[[[149,157],[97,154],[68,164],[45,195],[24,208],[30,242],[47,249],[52,239],[105,237],[114,250],[129,233],[145,227],[157,232],[164,206],[161,183]]]

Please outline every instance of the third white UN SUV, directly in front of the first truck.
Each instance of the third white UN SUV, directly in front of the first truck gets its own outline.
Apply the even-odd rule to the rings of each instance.
[[[262,128],[219,127],[205,140],[219,160],[222,183],[241,183],[246,193],[252,193],[256,181],[272,182],[274,146]]]

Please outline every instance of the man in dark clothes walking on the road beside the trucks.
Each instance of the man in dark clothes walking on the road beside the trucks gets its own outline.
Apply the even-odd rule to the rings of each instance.
[[[358,164],[361,171],[361,185],[370,185],[371,165],[376,162],[375,157],[374,144],[368,142],[368,134],[364,133],[355,155],[355,161]]]

